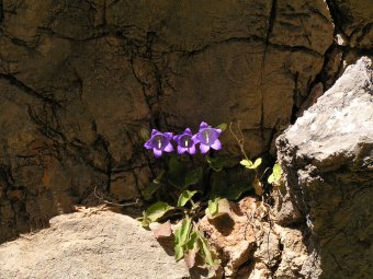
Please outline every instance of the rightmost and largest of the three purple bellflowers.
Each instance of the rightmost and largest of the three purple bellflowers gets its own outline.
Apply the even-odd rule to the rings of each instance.
[[[206,123],[201,123],[199,132],[193,136],[193,140],[200,143],[201,153],[205,154],[210,150],[210,148],[215,150],[222,149],[222,143],[218,140],[222,130],[212,128]]]

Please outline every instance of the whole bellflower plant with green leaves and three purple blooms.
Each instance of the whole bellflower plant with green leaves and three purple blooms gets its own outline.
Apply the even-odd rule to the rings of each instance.
[[[218,138],[227,127],[226,124],[222,124],[213,128],[202,123],[197,133],[193,135],[187,128],[183,133],[177,136],[157,130],[152,130],[150,136],[146,131],[140,131],[146,140],[144,147],[152,150],[162,165],[157,177],[143,191],[145,200],[158,199],[158,201],[144,211],[140,218],[142,224],[149,226],[152,222],[162,223],[161,230],[158,230],[156,234],[158,236],[174,235],[176,259],[184,258],[189,268],[195,265],[196,259],[210,266],[219,263],[217,254],[199,230],[200,218],[206,214],[208,219],[213,219],[227,212],[228,200],[237,200],[245,193],[253,190],[257,196],[263,195],[262,177],[267,170],[263,172],[259,170],[262,160],[258,158],[252,162],[248,159],[239,125],[241,139],[234,133],[231,124],[229,130],[244,155],[240,164],[253,174],[253,178],[238,179],[227,187],[226,170],[235,167],[238,163],[235,159],[216,153],[222,149]],[[176,150],[172,139],[177,143],[178,155],[172,153]],[[195,160],[197,144],[200,144],[202,156]],[[207,154],[210,150],[213,151]],[[165,152],[169,154],[166,155]],[[270,175],[271,182],[269,179],[268,183],[279,179],[278,166],[275,170]],[[177,229],[173,231],[170,221],[177,223]]]

